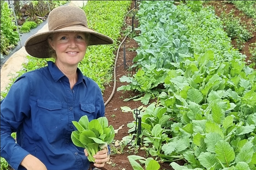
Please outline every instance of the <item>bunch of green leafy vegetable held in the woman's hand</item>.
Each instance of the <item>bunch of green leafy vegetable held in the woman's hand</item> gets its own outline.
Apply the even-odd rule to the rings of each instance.
[[[88,160],[95,162],[95,155],[98,151],[106,148],[114,139],[114,128],[108,126],[108,119],[100,117],[89,122],[87,115],[84,115],[80,120],[72,121],[77,131],[71,134],[72,142],[78,146],[85,148],[88,153]]]

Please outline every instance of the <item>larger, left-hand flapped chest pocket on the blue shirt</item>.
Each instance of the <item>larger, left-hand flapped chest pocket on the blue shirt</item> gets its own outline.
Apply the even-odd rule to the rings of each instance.
[[[56,100],[37,100],[37,117],[44,129],[59,130],[60,120],[63,119],[62,103]]]

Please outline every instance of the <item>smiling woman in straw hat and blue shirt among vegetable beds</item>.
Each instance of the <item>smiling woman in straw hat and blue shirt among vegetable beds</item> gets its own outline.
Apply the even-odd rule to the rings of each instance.
[[[88,170],[86,150],[71,140],[72,121],[103,117],[105,107],[99,86],[77,66],[87,46],[113,40],[88,28],[85,12],[75,6],[53,9],[48,27],[24,46],[29,55],[55,62],[19,77],[1,101],[1,157],[15,170]],[[99,151],[94,166],[103,167],[107,156]]]

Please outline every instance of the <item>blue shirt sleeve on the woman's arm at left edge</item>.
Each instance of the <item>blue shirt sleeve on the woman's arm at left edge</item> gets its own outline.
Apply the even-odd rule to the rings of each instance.
[[[18,169],[21,161],[29,154],[11,136],[12,132],[17,132],[23,119],[29,117],[29,96],[29,80],[21,76],[1,101],[1,157],[14,169]]]

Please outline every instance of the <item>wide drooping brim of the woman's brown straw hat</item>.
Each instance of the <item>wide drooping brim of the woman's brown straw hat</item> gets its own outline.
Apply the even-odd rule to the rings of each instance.
[[[59,33],[59,32],[82,32],[89,33],[90,40],[87,46],[91,45],[103,45],[103,44],[113,44],[114,41],[108,36],[95,32],[93,29],[79,26],[70,26],[58,30],[43,32],[35,34],[27,39],[24,44],[24,47],[27,53],[33,57],[37,58],[50,58],[49,55],[49,43],[48,37],[50,34]]]

